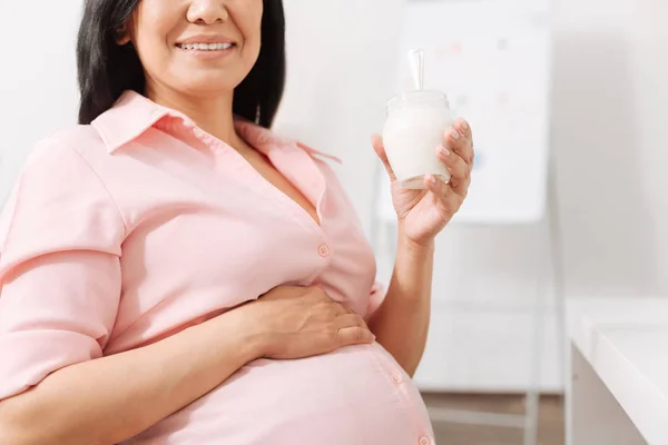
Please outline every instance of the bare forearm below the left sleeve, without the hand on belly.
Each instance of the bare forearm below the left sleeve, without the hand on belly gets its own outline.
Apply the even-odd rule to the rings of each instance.
[[[235,312],[165,340],[57,370],[0,402],[0,443],[109,445],[212,390],[262,345]]]

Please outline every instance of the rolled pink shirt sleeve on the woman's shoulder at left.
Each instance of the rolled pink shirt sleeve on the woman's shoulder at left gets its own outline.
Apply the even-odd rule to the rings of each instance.
[[[124,238],[118,207],[87,161],[40,142],[0,217],[0,400],[102,355]]]

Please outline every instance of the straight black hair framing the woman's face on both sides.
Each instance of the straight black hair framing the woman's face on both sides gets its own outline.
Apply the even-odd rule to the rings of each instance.
[[[118,30],[125,28],[139,1],[86,0],[77,41],[79,123],[90,123],[125,90],[145,92],[146,77],[135,48],[117,43]],[[263,3],[259,57],[235,89],[233,111],[269,128],[285,86],[285,16],[282,0]]]

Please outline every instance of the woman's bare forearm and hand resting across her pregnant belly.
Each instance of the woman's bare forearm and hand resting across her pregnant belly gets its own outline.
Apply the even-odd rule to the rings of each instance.
[[[308,357],[371,342],[363,319],[322,289],[277,287],[161,342],[65,367],[0,402],[0,444],[116,444],[255,358]]]

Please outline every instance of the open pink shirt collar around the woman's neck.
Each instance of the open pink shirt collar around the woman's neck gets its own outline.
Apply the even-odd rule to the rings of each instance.
[[[109,110],[91,122],[91,126],[100,135],[107,150],[112,154],[137,139],[166,116],[180,118],[187,127],[196,127],[195,122],[186,115],[163,107],[132,90],[125,91]],[[235,119],[235,128],[246,142],[265,154],[277,146],[298,146],[311,155],[320,155],[341,162],[333,156],[314,150],[294,139],[277,136],[273,131],[242,118]]]

